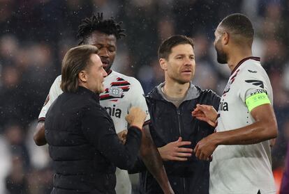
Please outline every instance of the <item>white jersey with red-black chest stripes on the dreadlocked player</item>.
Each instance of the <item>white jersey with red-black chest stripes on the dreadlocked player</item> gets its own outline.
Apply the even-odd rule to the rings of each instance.
[[[57,79],[52,83],[38,120],[45,120],[45,114],[52,102],[63,92],[60,88],[60,83],[61,75],[57,76]],[[105,77],[103,85],[105,91],[100,94],[100,104],[111,116],[117,133],[128,129],[128,123],[125,118],[132,106],[142,108],[147,113],[146,122],[149,122],[150,117],[144,98],[144,91],[137,79],[112,71]],[[128,177],[128,172],[117,168],[115,175],[117,176],[117,186],[115,188],[117,194],[131,193],[131,181]]]

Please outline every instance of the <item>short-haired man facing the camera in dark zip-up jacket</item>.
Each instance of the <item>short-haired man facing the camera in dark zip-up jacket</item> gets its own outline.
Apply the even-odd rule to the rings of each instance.
[[[165,82],[147,96],[151,115],[151,136],[164,161],[165,170],[175,193],[209,193],[209,161],[200,161],[192,154],[196,143],[212,134],[207,122],[193,118],[197,104],[218,109],[220,97],[212,90],[201,90],[191,83],[195,72],[193,40],[173,35],[158,49]],[[141,171],[143,165],[135,169]],[[135,170],[134,169],[134,170]],[[143,170],[143,169],[142,169]],[[140,187],[143,193],[162,193],[154,177],[144,170]]]

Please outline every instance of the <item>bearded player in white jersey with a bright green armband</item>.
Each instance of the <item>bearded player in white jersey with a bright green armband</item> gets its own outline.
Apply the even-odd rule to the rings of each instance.
[[[200,120],[216,124],[216,133],[195,146],[199,159],[209,159],[210,193],[276,193],[269,140],[277,136],[273,92],[260,58],[252,56],[254,30],[248,17],[232,14],[215,31],[218,63],[228,63],[231,76],[218,113],[199,105]]]

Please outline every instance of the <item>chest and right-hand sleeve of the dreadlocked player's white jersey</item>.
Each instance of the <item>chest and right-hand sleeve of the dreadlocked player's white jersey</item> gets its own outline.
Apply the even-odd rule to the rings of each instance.
[[[132,106],[139,106],[147,113],[146,121],[149,121],[149,111],[144,98],[144,91],[140,82],[131,77],[112,71],[103,82],[105,91],[100,95],[101,106],[112,117],[117,133],[128,128],[126,115]]]

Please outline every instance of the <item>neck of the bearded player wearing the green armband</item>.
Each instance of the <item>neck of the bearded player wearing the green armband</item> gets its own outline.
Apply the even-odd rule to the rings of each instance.
[[[238,65],[238,63],[247,57],[252,56],[252,50],[250,48],[242,48],[242,49],[231,49],[230,54],[228,54],[228,66],[232,72],[232,70],[235,69],[235,67]]]

